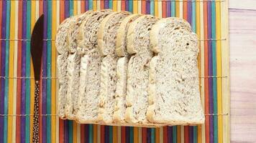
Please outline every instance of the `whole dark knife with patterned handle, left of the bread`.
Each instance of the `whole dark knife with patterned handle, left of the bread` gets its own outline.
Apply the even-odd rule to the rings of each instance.
[[[44,31],[44,15],[35,23],[32,31],[30,42],[30,53],[32,56],[32,63],[35,73],[35,102],[34,102],[34,116],[33,116],[33,137],[32,142],[39,142],[39,87],[40,87],[40,71],[42,61],[42,38]]]

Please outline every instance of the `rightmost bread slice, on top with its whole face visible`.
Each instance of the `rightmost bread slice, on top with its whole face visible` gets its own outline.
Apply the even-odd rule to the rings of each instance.
[[[150,107],[147,119],[163,124],[203,124],[198,84],[198,39],[183,19],[157,21],[150,33]]]

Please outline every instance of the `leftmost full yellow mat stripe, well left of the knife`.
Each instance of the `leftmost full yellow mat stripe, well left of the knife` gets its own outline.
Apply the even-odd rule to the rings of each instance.
[[[15,11],[12,9],[15,8],[15,1],[11,1],[11,21],[10,21],[10,39],[14,39],[14,26],[15,26]],[[9,77],[14,76],[14,41],[10,41],[9,45]],[[8,93],[8,114],[13,114],[13,84],[14,80],[9,79],[9,93]],[[7,142],[12,142],[12,117],[8,116],[8,133],[7,133]]]

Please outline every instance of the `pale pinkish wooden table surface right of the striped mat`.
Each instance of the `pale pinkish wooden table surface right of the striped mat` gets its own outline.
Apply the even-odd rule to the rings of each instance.
[[[256,142],[256,1],[229,0],[231,142]]]

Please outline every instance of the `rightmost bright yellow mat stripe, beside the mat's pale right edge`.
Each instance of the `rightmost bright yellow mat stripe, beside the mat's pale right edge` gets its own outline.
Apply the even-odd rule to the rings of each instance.
[[[216,39],[221,39],[221,6],[216,2]],[[221,41],[216,41],[217,76],[221,77]],[[217,79],[218,114],[222,113],[222,85],[221,78]],[[218,142],[223,142],[222,116],[218,116]]]

